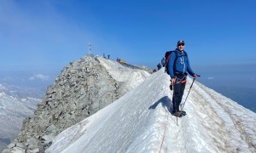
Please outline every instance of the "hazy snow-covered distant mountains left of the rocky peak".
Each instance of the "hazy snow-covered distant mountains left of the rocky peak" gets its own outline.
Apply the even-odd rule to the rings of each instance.
[[[32,115],[43,95],[33,88],[0,84],[0,151],[17,137],[22,121]]]

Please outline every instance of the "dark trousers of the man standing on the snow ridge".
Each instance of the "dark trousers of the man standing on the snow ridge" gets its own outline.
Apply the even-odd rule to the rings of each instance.
[[[173,111],[179,111],[179,105],[183,99],[184,89],[186,87],[186,77],[182,80],[182,77],[177,77],[176,82],[173,85],[173,96],[172,96],[172,108]]]

